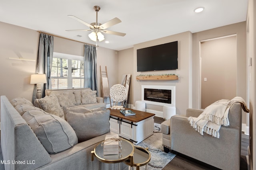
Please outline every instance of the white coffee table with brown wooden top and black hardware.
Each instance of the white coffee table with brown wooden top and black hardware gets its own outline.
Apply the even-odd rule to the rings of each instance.
[[[144,139],[153,135],[154,115],[145,111],[132,110],[136,115],[124,116],[120,109],[110,109],[110,131],[118,133],[134,144],[138,144]]]

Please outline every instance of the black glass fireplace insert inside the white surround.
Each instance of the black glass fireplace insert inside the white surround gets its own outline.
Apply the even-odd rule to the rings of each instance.
[[[172,90],[144,88],[144,100],[171,104]]]

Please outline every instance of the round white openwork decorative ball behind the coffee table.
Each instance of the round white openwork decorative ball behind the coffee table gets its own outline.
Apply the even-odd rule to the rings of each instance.
[[[122,84],[115,84],[110,88],[109,95],[114,102],[122,102],[126,99],[127,90]]]

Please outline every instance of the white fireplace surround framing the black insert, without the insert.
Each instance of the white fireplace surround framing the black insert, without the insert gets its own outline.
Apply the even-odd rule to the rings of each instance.
[[[171,104],[161,103],[161,102],[152,102],[152,101],[144,100],[144,88],[161,89],[161,90],[172,90]],[[156,106],[175,107],[176,88],[175,88],[175,86],[141,85],[141,100],[143,102],[145,102],[146,104],[152,104],[152,105],[156,105]]]

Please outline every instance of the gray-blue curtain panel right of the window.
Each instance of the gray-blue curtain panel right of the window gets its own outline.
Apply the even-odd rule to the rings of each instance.
[[[96,47],[92,45],[84,45],[84,88],[97,90],[97,57]]]

